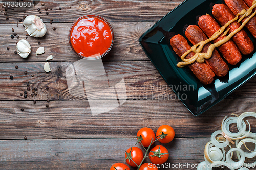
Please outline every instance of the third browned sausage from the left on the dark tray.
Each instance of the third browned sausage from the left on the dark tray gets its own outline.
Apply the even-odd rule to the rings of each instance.
[[[221,28],[216,20],[210,15],[200,16],[198,19],[198,25],[208,37],[211,37],[216,31]],[[218,38],[213,40],[213,42],[216,43],[225,37],[226,36],[222,36],[221,34]],[[238,47],[236,46],[236,44],[234,44],[232,40],[229,40],[226,43],[222,44],[218,47],[218,49],[229,64],[236,65],[242,59],[242,55],[239,52]]]

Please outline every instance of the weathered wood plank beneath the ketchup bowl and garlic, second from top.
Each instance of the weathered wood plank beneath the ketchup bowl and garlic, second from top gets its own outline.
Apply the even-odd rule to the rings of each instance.
[[[26,31],[24,27],[16,25],[1,25],[0,32],[0,62],[35,62],[45,61],[46,57],[53,55],[54,61],[77,61],[80,59],[71,49],[69,45],[69,28],[72,23],[46,24],[47,34],[44,37],[35,38],[28,37],[26,39],[31,45],[31,54],[27,59],[21,58],[19,55],[15,55],[16,42],[20,39],[26,38]],[[110,53],[102,58],[103,61],[129,61],[129,60],[148,60],[147,56],[143,52],[138,43],[139,37],[151,26],[154,22],[142,22],[142,23],[111,23],[114,30],[114,45]],[[55,27],[54,31],[52,28]],[[15,29],[15,33],[19,35],[19,39],[16,37],[11,39],[13,34],[12,28]],[[38,42],[41,44],[38,45]],[[38,47],[45,48],[45,54],[36,56],[35,52]],[[7,50],[7,47],[10,50]]]

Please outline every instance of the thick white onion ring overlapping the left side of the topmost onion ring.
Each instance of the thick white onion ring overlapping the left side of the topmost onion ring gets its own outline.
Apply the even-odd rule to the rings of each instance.
[[[238,131],[237,133],[232,133],[229,130],[229,125],[230,124],[237,124],[237,120],[238,117],[228,117],[227,116],[223,119],[222,124],[221,124],[221,130],[222,132],[224,132],[226,135],[228,135],[231,139],[233,137],[238,137],[238,136],[242,136],[242,132]],[[242,128],[244,129],[244,131],[246,130],[246,124],[244,122],[244,120],[242,120]]]

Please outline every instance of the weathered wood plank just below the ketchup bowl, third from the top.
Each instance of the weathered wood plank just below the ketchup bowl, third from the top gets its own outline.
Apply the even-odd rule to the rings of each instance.
[[[78,90],[75,95],[70,95],[67,80],[66,68],[72,62],[50,62],[52,71],[46,73],[43,69],[44,63],[0,63],[0,99],[1,100],[86,100],[87,96],[83,90]],[[19,68],[15,69],[15,65]],[[127,99],[177,99],[176,94],[168,87],[150,61],[129,61],[129,62],[104,62],[106,74],[109,76],[110,86],[124,78]],[[28,74],[25,75],[24,71]],[[31,75],[34,75],[32,77]],[[14,77],[11,80],[9,77]],[[228,98],[254,98],[256,95],[256,78],[230,94]],[[30,88],[36,87],[37,96],[31,97],[28,91],[28,98],[20,96],[20,93],[27,91],[27,82]],[[78,82],[81,82],[80,80]],[[98,82],[102,83],[102,82]],[[103,82],[104,83],[104,82]],[[46,90],[46,86],[49,87]],[[98,85],[99,86],[99,85]],[[96,87],[96,86],[95,86]],[[87,91],[90,94],[92,91]]]

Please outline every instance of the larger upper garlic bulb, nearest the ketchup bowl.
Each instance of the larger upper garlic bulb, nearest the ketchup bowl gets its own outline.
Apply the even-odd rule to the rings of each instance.
[[[36,15],[27,16],[23,21],[23,25],[30,36],[42,37],[46,34],[46,25]]]

